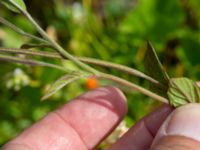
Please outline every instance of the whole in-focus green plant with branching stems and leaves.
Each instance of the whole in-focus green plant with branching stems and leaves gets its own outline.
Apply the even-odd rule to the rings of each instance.
[[[196,83],[188,78],[170,78],[164,71],[155,50],[150,43],[147,45],[146,55],[145,55],[145,66],[148,75],[119,64],[114,64],[111,62],[105,62],[102,60],[96,60],[94,58],[86,57],[75,57],[65,51],[57,42],[52,40],[45,31],[37,24],[37,22],[32,18],[32,16],[27,12],[26,6],[23,0],[1,0],[2,4],[8,7],[10,10],[20,13],[27,18],[27,20],[35,27],[41,37],[26,33],[21,28],[18,28],[13,23],[7,21],[6,19],[0,17],[0,22],[10,27],[17,33],[26,36],[34,41],[34,43],[26,43],[19,49],[1,48],[0,52],[6,53],[16,53],[25,54],[30,56],[42,56],[49,58],[58,59],[68,59],[75,63],[80,69],[69,70],[62,66],[55,64],[50,64],[47,62],[42,62],[34,59],[24,59],[16,56],[10,56],[1,54],[0,60],[12,61],[30,65],[47,66],[55,69],[64,71],[66,75],[58,79],[52,87],[49,89],[47,94],[42,99],[47,99],[49,96],[60,90],[65,85],[79,80],[81,78],[95,77],[98,79],[111,80],[114,83],[120,84],[125,87],[129,87],[133,90],[139,91],[153,99],[159,100],[164,103],[170,103],[172,106],[181,106],[190,102],[199,102],[200,100],[200,89],[197,87]],[[57,53],[43,52],[43,51],[33,51],[29,50],[32,47],[49,47],[54,49]],[[100,72],[97,69],[89,66],[88,64],[95,64],[100,66],[105,66],[109,68],[115,68],[122,72],[129,73],[131,75],[141,77],[150,82],[150,90],[147,90],[139,85],[136,85],[130,81],[122,79],[120,77]],[[187,94],[185,94],[187,93]],[[169,99],[169,100],[168,100]]]

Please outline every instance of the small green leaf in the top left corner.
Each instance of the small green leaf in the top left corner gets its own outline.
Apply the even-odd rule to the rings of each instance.
[[[0,3],[16,13],[20,13],[20,11],[14,5],[17,5],[22,10],[26,11],[26,5],[23,0],[1,0]]]

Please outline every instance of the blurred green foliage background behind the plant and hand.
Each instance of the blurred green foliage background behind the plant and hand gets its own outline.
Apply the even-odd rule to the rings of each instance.
[[[171,77],[200,79],[199,0],[25,2],[40,25],[71,54],[120,63],[144,72],[145,44],[150,40]],[[26,19],[2,6],[0,15],[37,34]],[[0,25],[1,47],[16,48],[25,42],[26,38]],[[73,64],[67,65],[73,67]],[[144,80],[96,68],[148,87]],[[81,81],[67,86],[49,101],[40,102],[45,89],[61,75],[59,71],[0,62],[0,74],[0,146],[49,111],[87,91],[85,82]],[[127,126],[160,105],[134,91],[126,92],[126,96],[129,104]]]

